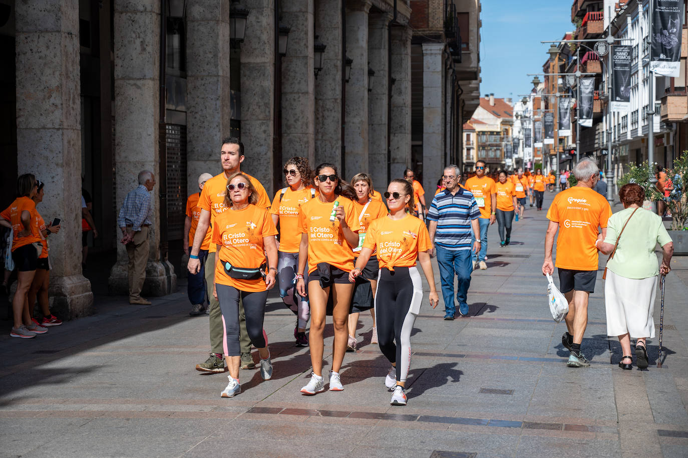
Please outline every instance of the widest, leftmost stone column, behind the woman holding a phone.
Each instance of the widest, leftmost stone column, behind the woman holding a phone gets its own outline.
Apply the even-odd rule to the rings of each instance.
[[[81,119],[78,1],[35,8],[15,3],[17,168],[45,183],[38,206],[45,222],[61,218],[50,236],[50,299],[61,318],[90,315],[91,283],[81,275]]]

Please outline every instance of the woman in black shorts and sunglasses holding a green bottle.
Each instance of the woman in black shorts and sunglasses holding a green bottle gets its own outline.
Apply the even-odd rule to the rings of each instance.
[[[323,330],[327,298],[332,294],[332,322],[334,348],[330,391],[342,391],[339,369],[347,346],[347,320],[354,285],[348,272],[354,268],[353,247],[358,245],[358,218],[352,200],[356,193],[337,176],[332,164],[316,168],[315,185],[320,194],[301,205],[299,230],[299,270],[303,272],[308,260],[308,297],[310,298],[310,361],[313,372],[310,381],[301,388],[304,395],[325,391],[323,379]],[[297,273],[297,293],[306,295],[305,280]]]

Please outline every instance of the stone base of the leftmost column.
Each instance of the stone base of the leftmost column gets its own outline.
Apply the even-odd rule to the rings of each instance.
[[[69,275],[50,280],[50,311],[65,320],[93,314],[91,282],[83,275]]]

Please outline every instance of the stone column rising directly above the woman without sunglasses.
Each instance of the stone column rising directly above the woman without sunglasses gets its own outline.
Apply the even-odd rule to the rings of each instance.
[[[347,1],[346,54],[354,60],[346,87],[345,164],[349,180],[368,172],[368,11],[365,0]]]

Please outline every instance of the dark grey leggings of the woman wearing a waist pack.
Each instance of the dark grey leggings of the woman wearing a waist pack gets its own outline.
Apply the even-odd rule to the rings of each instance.
[[[222,344],[225,356],[241,355],[239,345],[239,295],[246,311],[246,331],[256,348],[268,346],[268,337],[263,331],[265,303],[268,291],[247,293],[227,284],[215,284],[219,308],[222,310]]]

